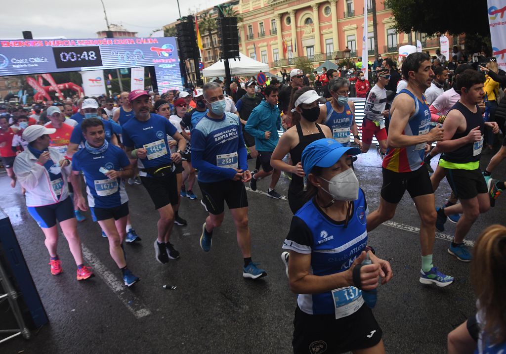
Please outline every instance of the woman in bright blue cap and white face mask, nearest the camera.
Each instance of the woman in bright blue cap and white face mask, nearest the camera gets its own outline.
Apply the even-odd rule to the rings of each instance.
[[[351,169],[356,147],[320,139],[302,153],[308,202],[293,216],[283,244],[298,294],[293,352],[384,353],[382,330],[362,291],[392,279],[389,262],[367,246],[367,203]],[[366,255],[372,264],[361,265]]]

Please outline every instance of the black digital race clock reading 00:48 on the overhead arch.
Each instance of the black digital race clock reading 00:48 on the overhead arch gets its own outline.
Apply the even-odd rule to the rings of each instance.
[[[100,47],[53,47],[58,69],[102,66]]]

